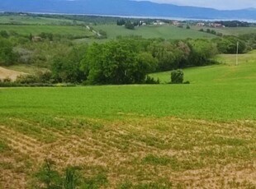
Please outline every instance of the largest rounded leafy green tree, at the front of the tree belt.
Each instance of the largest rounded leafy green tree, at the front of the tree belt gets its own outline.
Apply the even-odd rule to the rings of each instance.
[[[92,44],[83,58],[81,69],[90,84],[132,84],[145,81],[154,71],[155,59],[140,52],[135,40],[119,39]]]

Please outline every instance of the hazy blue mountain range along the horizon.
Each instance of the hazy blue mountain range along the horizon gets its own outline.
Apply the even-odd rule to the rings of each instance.
[[[131,0],[0,0],[0,12],[45,12],[256,21],[256,9],[254,8],[220,11],[212,8]]]

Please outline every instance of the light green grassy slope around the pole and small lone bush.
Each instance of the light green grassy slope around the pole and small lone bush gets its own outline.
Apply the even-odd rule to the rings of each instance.
[[[192,84],[225,84],[247,85],[255,84],[256,80],[256,51],[239,54],[239,65],[236,66],[236,57],[233,54],[222,54],[216,57],[220,65],[209,67],[192,67],[184,70],[185,81]],[[164,83],[170,81],[170,71],[151,74]]]

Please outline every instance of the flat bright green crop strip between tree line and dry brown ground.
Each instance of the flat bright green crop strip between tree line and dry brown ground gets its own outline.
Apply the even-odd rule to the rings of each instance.
[[[199,69],[200,70],[200,69]],[[207,71],[207,70],[206,70]],[[168,75],[168,80],[169,80]],[[189,76],[189,74],[185,76]],[[195,81],[189,77],[189,81]],[[206,78],[208,79],[208,78]],[[251,80],[253,80],[252,78]],[[232,80],[232,78],[230,78]],[[239,80],[239,79],[238,79]],[[203,79],[201,79],[203,81]],[[217,120],[255,119],[254,81],[224,85],[142,85],[1,90],[1,119],[16,115],[77,115],[116,118],[118,113]],[[215,81],[213,81],[215,82]],[[225,90],[223,90],[225,88]],[[17,94],[18,91],[18,94]],[[220,92],[221,91],[221,92]],[[244,91],[247,91],[244,93]],[[62,94],[62,95],[59,95]],[[180,94],[183,94],[181,97]],[[38,99],[38,96],[44,96]],[[67,100],[69,99],[69,100]],[[226,99],[223,101],[223,99]],[[200,101],[200,104],[197,103]],[[27,103],[26,103],[27,102]],[[15,104],[14,108],[10,107]],[[10,108],[8,108],[10,107]],[[248,108],[244,108],[248,107]],[[243,111],[241,111],[243,109]]]

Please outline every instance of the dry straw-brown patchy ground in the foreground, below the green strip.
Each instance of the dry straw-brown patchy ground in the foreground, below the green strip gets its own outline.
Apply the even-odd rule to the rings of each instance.
[[[76,122],[63,129],[35,123],[40,135],[30,132],[32,121],[18,121],[27,130],[19,131],[13,123],[15,119],[10,125],[0,126],[1,138],[12,149],[11,155],[1,154],[1,164],[12,164],[0,167],[3,188],[26,188],[29,172],[35,172],[45,158],[53,159],[59,168],[80,166],[86,174],[93,173],[93,168],[103,168],[109,188],[126,181],[168,181],[174,188],[256,186],[256,122],[253,121],[127,118],[102,121],[104,127],[97,130],[78,127]],[[61,118],[56,124],[62,122]],[[50,134],[54,141],[40,140]],[[156,160],[147,159],[152,156]],[[32,167],[26,166],[28,159]]]

